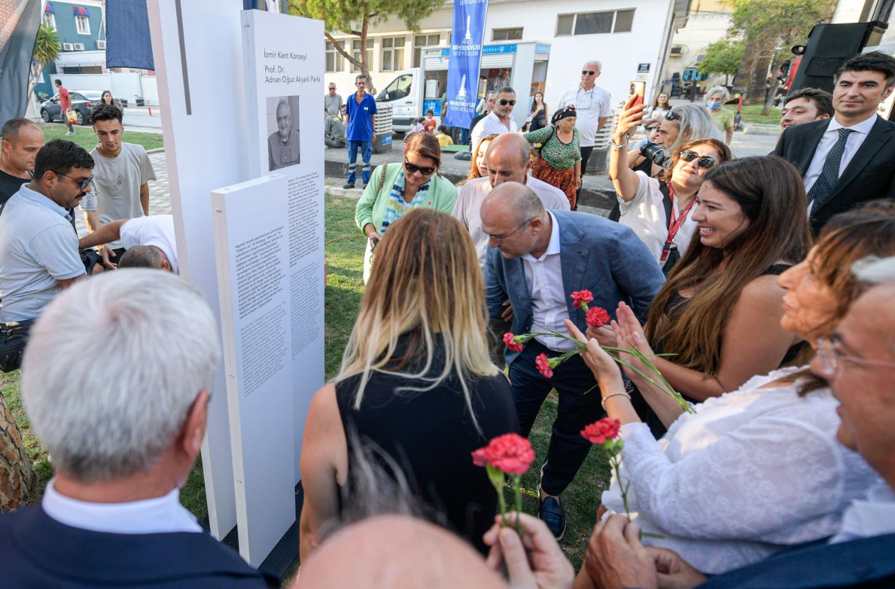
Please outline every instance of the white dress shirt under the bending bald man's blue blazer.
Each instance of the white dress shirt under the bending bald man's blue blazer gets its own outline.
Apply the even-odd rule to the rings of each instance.
[[[569,316],[566,289],[562,284],[559,224],[553,213],[548,210],[547,214],[552,221],[547,251],[537,259],[531,253],[522,256],[525,281],[528,283],[528,292],[532,294],[532,333],[556,331],[567,336],[569,333],[564,321]],[[564,337],[537,336],[535,339],[551,350],[575,349],[575,344]]]

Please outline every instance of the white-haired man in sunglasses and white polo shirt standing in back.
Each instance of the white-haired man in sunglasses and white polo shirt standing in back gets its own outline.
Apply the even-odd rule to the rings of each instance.
[[[602,64],[595,59],[581,68],[581,82],[568,88],[559,99],[559,108],[575,107],[578,115],[578,137],[581,142],[581,175],[587,173],[587,160],[591,158],[597,132],[609,119],[612,97],[609,92],[596,85],[600,77]],[[581,196],[578,189],[577,196]]]

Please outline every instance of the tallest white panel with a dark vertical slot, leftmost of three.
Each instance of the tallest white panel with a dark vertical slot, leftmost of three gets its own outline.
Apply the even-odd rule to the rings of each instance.
[[[217,314],[217,273],[209,193],[250,177],[246,160],[242,0],[148,0],[158,109],[175,220],[180,273]],[[152,195],[149,195],[152,198]],[[224,366],[215,376],[202,474],[211,534],[236,525]]]

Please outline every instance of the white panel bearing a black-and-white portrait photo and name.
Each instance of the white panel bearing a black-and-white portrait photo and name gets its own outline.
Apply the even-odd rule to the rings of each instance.
[[[286,294],[291,302],[295,456],[323,386],[323,22],[243,12],[251,177],[286,177]],[[260,255],[263,263],[264,256]],[[298,459],[294,482],[301,480]]]

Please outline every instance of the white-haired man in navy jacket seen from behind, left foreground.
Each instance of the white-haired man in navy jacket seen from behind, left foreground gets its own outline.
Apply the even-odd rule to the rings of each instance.
[[[87,360],[110,349],[123,362]],[[174,274],[108,272],[47,306],[21,396],[55,475],[40,505],[0,515],[4,586],[278,586],[179,501],[219,355],[208,304]]]

